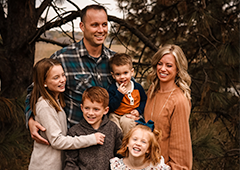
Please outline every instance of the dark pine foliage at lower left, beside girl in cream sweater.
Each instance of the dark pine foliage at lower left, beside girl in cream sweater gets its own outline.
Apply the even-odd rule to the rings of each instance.
[[[0,169],[27,169],[32,140],[25,126],[25,95],[19,99],[0,97]]]

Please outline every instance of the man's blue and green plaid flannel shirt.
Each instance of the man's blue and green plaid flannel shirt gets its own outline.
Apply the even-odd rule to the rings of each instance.
[[[55,52],[51,58],[57,59],[62,63],[67,78],[64,98],[68,127],[77,124],[83,117],[80,108],[82,94],[84,90],[92,86],[101,86],[107,89],[113,79],[110,74],[108,61],[115,52],[103,45],[102,54],[99,58],[90,56],[83,44],[83,40],[67,46]],[[30,92],[32,87],[28,88],[28,95],[25,101],[26,126],[28,119],[32,116],[30,109]]]

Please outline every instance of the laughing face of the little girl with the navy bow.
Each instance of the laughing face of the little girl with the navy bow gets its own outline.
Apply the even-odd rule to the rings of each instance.
[[[137,129],[132,133],[128,141],[129,157],[145,159],[149,152],[149,134],[146,130]]]

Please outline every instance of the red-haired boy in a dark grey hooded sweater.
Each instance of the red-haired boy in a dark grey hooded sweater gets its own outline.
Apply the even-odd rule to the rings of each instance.
[[[66,151],[65,170],[109,169],[109,160],[116,156],[121,147],[122,132],[106,115],[108,103],[108,92],[102,87],[93,86],[83,92],[81,109],[84,119],[71,127],[68,135],[100,132],[105,136],[101,139],[102,145]]]

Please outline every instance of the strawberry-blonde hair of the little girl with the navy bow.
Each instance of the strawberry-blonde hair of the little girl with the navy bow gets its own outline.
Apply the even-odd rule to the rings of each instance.
[[[144,130],[144,132],[149,134],[149,152],[145,154],[145,160],[144,161],[149,161],[151,162],[153,165],[156,165],[157,163],[160,162],[161,160],[161,149],[158,143],[158,140],[160,140],[162,133],[161,131],[158,131],[156,129],[153,130],[153,132],[151,131],[151,129],[145,125],[137,125],[134,128],[132,128],[127,135],[123,138],[122,140],[122,146],[121,148],[118,150],[118,154],[121,154],[123,157],[128,157],[129,156],[129,150],[128,150],[128,143],[129,143],[129,139],[132,136],[132,134],[138,130]]]

